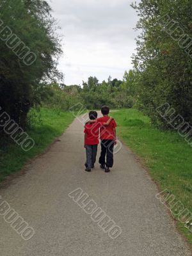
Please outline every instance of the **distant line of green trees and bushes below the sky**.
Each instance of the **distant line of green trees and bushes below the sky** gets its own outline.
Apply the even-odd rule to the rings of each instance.
[[[104,105],[110,108],[132,108],[136,95],[135,83],[132,70],[125,72],[122,81],[109,76],[108,81],[102,83],[97,77],[88,77],[88,81],[83,81],[81,86],[51,83],[47,86],[50,96],[45,98],[44,104],[63,110],[79,102],[87,109],[100,109]]]

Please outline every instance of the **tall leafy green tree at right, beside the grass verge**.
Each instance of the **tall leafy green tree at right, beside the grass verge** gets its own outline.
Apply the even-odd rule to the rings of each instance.
[[[192,37],[191,1],[141,0],[132,7],[140,17],[136,28],[141,29],[134,55],[137,105],[154,124],[166,127],[156,109],[168,102],[192,124],[192,60],[179,45],[184,41],[181,29]],[[164,23],[164,17],[170,22]]]

